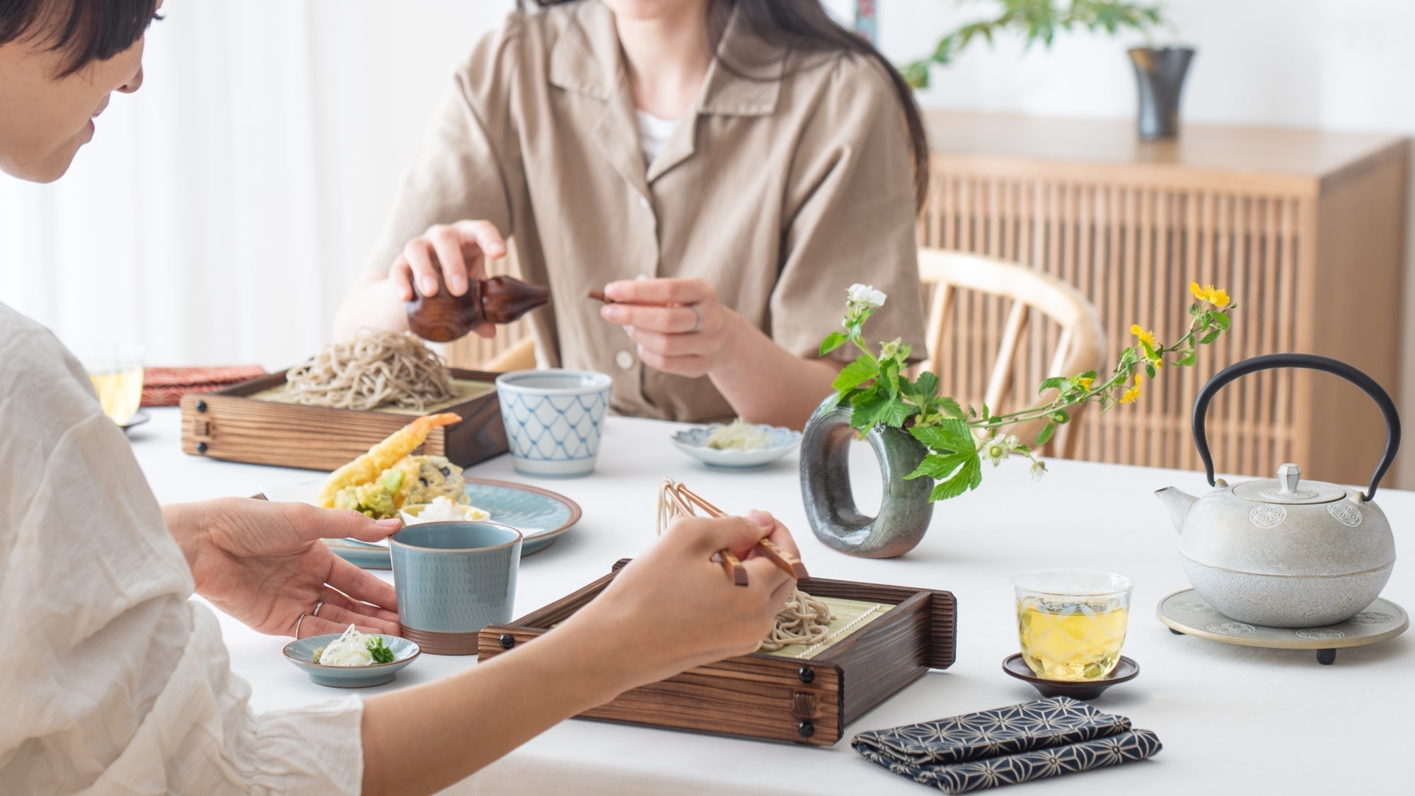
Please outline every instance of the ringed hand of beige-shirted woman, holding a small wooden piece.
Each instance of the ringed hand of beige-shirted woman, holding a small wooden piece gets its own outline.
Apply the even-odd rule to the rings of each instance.
[[[699,377],[730,358],[741,316],[722,306],[705,279],[642,279],[604,286],[604,320],[617,323],[638,343],[648,367]]]

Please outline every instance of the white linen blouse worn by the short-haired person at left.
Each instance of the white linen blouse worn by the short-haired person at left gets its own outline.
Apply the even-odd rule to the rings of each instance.
[[[358,793],[357,698],[256,715],[123,433],[0,306],[0,795]]]

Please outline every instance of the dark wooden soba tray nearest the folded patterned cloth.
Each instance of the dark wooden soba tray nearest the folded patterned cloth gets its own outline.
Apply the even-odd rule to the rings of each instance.
[[[628,559],[583,589],[477,637],[478,660],[533,640],[594,599]],[[951,592],[807,578],[801,591],[835,605],[873,605],[853,627],[818,650],[751,653],[700,666],[580,714],[770,741],[829,746],[845,725],[918,680],[954,663]],[[832,605],[832,610],[835,609]],[[852,615],[853,616],[853,615]],[[807,656],[807,657],[802,657]]]

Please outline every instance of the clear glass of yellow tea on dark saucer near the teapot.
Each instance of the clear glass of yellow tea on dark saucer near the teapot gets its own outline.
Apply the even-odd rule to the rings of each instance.
[[[1047,680],[1104,680],[1121,660],[1131,612],[1129,578],[1044,569],[1012,579],[1022,659]]]

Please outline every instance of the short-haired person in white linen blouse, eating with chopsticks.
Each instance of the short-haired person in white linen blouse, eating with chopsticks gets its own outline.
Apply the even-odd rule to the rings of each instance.
[[[158,6],[0,0],[0,170],[68,170],[110,95],[142,85]],[[628,688],[756,649],[794,585],[750,552],[764,537],[795,550],[770,516],[683,520],[533,644],[366,701],[256,715],[192,592],[267,633],[395,632],[392,588],[318,542],[395,527],[256,500],[158,507],[83,368],[3,305],[0,473],[3,795],[432,793]],[[712,562],[720,548],[749,586]]]

